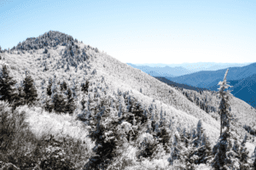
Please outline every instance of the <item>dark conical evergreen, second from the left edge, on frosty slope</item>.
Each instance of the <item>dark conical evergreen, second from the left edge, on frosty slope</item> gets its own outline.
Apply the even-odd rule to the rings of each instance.
[[[32,77],[26,71],[26,77],[23,81],[24,84],[24,100],[27,105],[35,104],[38,101],[37,89],[34,86],[34,81]]]

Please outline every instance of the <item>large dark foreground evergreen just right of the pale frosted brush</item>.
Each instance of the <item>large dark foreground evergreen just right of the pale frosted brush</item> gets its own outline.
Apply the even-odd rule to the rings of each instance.
[[[103,103],[110,103],[104,100],[102,101]],[[92,114],[94,119],[90,123],[92,127],[90,138],[96,142],[96,146],[93,149],[96,156],[90,158],[84,169],[107,169],[111,161],[122,154],[119,148],[127,143],[125,133],[130,131],[131,124],[128,122],[120,124],[120,118],[113,114],[113,110],[110,110],[109,105],[96,105],[92,110],[95,110],[93,112],[96,114]]]

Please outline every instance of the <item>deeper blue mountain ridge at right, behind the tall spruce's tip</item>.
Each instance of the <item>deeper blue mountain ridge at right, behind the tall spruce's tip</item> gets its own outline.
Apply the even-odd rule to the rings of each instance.
[[[223,81],[226,69],[218,71],[199,71],[181,77],[166,77],[172,82],[187,84],[198,88],[218,91],[218,82]],[[230,67],[227,81],[233,88],[231,94],[256,107],[256,63],[242,67]]]

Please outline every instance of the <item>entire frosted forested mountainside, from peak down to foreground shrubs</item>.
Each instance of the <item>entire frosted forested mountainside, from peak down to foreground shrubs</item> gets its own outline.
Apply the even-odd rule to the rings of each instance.
[[[0,169],[256,169],[256,110],[60,31],[0,47]]]

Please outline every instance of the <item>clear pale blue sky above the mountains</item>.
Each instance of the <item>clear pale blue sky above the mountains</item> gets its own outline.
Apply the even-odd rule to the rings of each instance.
[[[61,31],[124,63],[256,62],[256,1],[0,0],[0,46]]]

